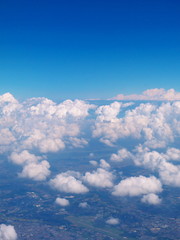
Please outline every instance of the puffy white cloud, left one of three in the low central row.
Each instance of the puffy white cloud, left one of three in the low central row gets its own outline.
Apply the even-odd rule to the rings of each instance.
[[[70,175],[70,172],[60,173],[50,180],[50,186],[60,192],[66,193],[86,193],[88,188],[82,182]]]

